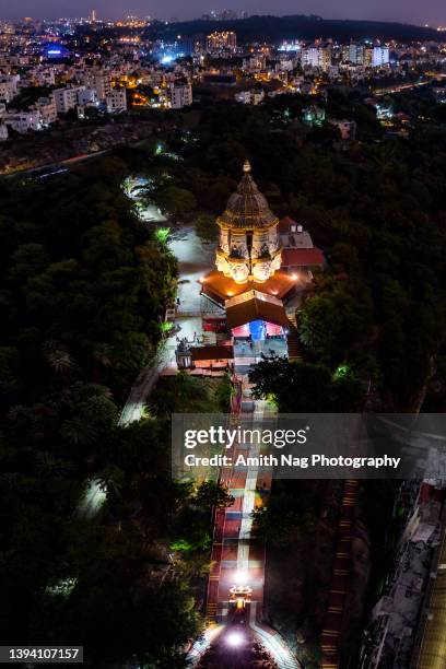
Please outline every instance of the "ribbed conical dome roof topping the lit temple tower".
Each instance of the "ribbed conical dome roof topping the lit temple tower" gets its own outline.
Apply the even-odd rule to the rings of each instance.
[[[250,176],[248,161],[243,166],[244,175],[237,190],[227,200],[226,209],[216,222],[224,227],[271,227],[278,223],[265,196]]]

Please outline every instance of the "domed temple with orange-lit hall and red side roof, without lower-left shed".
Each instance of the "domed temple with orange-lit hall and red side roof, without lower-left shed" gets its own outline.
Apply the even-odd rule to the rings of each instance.
[[[201,279],[201,292],[224,308],[235,345],[269,340],[271,351],[292,328],[286,302],[307,286],[308,266],[321,267],[324,256],[302,226],[272,213],[250,169],[246,162],[237,190],[216,219],[216,269]]]

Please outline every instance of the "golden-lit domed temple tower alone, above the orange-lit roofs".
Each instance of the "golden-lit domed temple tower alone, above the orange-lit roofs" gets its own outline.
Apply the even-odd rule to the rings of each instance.
[[[280,268],[279,220],[244,165],[244,176],[225,211],[216,219],[220,244],[216,269],[235,283],[265,282]]]

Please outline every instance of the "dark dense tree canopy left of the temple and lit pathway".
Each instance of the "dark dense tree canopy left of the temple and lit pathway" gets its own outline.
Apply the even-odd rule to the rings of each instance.
[[[176,277],[122,167],[0,186],[0,627],[83,644],[92,666],[171,667],[199,630],[193,579],[226,497],[171,480],[161,411],[117,423]]]

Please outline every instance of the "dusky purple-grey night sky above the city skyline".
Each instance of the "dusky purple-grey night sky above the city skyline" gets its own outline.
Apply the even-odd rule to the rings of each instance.
[[[86,16],[126,14],[159,19],[191,19],[210,10],[230,8],[249,14],[320,14],[326,19],[395,20],[432,26],[446,24],[445,0],[0,0],[0,17]]]

